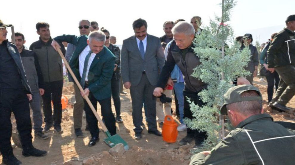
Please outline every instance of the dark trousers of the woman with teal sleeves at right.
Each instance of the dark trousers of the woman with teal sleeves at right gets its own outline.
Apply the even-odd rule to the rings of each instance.
[[[274,94],[274,85],[276,85],[276,92],[277,92],[279,82],[280,82],[280,76],[277,73],[277,71],[274,71],[274,73],[270,73],[268,76],[266,76],[266,81],[267,81],[267,98],[268,98],[268,102],[270,102]]]

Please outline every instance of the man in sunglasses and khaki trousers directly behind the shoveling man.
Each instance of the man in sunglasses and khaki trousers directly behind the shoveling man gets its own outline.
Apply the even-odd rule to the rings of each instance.
[[[80,20],[79,21],[79,31],[80,31],[80,36],[86,35],[88,36],[90,31],[91,31],[91,24],[90,21],[88,20]],[[66,60],[69,62],[74,51],[76,49],[76,46],[69,43],[66,49]],[[69,76],[69,82],[74,82],[72,77]],[[75,103],[74,103],[74,110],[73,110],[73,118],[74,118],[74,130],[75,130],[75,135],[78,138],[84,137],[84,134],[81,130],[82,128],[82,116],[83,116],[83,109],[84,109],[84,101],[83,97],[80,94],[80,90],[78,86],[74,83],[74,90],[75,90]],[[86,129],[87,129],[87,124],[86,124]]]

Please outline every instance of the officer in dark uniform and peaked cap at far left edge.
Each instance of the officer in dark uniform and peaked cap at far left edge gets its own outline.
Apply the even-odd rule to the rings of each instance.
[[[24,156],[44,156],[46,151],[38,150],[32,145],[32,123],[29,100],[32,100],[30,86],[27,84],[21,57],[14,44],[8,42],[7,27],[0,20],[0,150],[2,162],[17,165],[21,162],[13,155],[10,137],[13,112],[18,132],[21,136]],[[29,99],[28,99],[29,98]]]

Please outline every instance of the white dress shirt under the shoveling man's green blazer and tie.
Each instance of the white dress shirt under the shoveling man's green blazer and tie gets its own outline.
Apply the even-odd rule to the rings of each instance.
[[[88,55],[89,51],[90,51],[90,47],[89,47],[89,45],[87,45],[87,47],[85,47],[84,50],[79,55],[79,72],[80,72],[81,77],[82,77],[82,74],[83,74],[85,58]],[[91,55],[89,57],[85,81],[88,81],[87,77],[88,77],[89,68],[90,68],[90,65],[91,65],[95,55],[96,55],[95,53],[91,53]]]

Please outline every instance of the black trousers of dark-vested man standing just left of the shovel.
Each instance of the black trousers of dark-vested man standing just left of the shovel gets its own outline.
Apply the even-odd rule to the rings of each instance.
[[[44,82],[43,112],[44,122],[53,123],[53,126],[60,126],[62,117],[61,94],[63,92],[63,80]],[[53,103],[53,115],[51,108]]]

